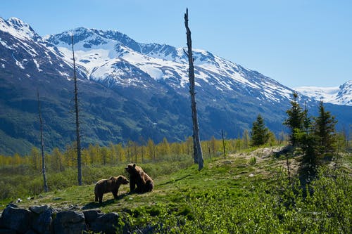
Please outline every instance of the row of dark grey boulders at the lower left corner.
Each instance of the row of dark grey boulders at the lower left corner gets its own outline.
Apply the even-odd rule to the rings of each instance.
[[[8,204],[0,217],[0,234],[56,234],[56,233],[93,233],[113,234],[124,229],[120,215],[103,214],[99,210],[77,212],[61,211],[47,205],[29,209]]]

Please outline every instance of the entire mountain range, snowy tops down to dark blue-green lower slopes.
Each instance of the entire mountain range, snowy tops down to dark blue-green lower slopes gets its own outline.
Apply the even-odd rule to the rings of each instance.
[[[39,146],[37,90],[47,150],[75,141],[72,34],[84,147],[191,136],[184,48],[84,27],[44,39],[22,20],[0,18],[0,154]],[[209,51],[194,49],[194,65],[202,139],[219,138],[221,130],[238,137],[259,113],[271,131],[283,130],[293,90]],[[348,92],[351,84],[341,98]],[[314,114],[318,102],[300,98]],[[339,124],[350,124],[351,106],[328,108]]]

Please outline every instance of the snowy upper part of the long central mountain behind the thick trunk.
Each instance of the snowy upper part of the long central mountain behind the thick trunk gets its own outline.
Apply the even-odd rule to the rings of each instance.
[[[80,27],[48,39],[66,59],[72,57],[72,34],[75,35],[78,63],[85,67],[89,79],[100,82],[108,79],[110,85],[141,85],[139,77],[143,73],[156,81],[163,80],[174,89],[187,86],[188,60],[184,48],[137,43],[120,32]],[[292,93],[291,89],[275,80],[208,51],[194,50],[194,65],[200,87],[211,85],[218,91],[255,93],[259,100],[273,102],[286,101]],[[126,76],[129,79],[122,79]]]

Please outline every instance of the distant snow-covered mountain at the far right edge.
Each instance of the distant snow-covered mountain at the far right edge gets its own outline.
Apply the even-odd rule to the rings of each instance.
[[[352,105],[352,80],[339,87],[301,86],[294,90],[315,100],[322,99],[325,103]]]

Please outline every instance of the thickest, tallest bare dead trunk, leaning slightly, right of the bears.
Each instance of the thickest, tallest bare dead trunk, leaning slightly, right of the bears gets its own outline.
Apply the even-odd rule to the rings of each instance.
[[[193,122],[193,145],[194,145],[194,162],[198,162],[198,169],[203,168],[203,153],[201,151],[201,140],[199,138],[199,126],[198,117],[196,109],[196,92],[194,91],[194,65],[192,56],[192,40],[191,40],[191,30],[188,27],[188,8],[184,14],[184,26],[186,27],[187,34],[187,54],[189,62],[189,93],[191,94],[191,110],[192,110],[192,122]]]

